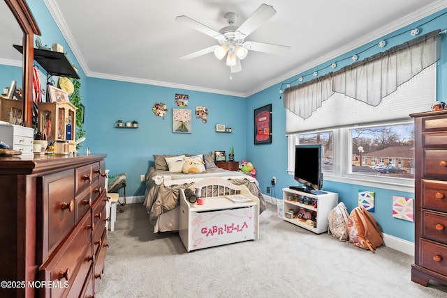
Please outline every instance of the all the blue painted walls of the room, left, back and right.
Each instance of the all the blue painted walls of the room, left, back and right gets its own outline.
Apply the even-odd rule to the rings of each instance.
[[[246,159],[254,164],[257,171],[256,178],[263,192],[267,186],[270,186],[272,176],[277,177],[277,185],[272,189],[272,195],[277,198],[282,197],[282,188],[296,183],[293,177],[286,172],[287,138],[284,135],[286,112],[282,100],[279,98],[281,84],[266,88],[244,99],[86,77],[43,1],[29,1],[29,6],[43,32],[41,37],[43,44],[58,42],[63,45],[64,52],[68,52],[67,56],[70,61],[80,70],[82,102],[86,109],[84,128],[87,130],[87,141],[82,143],[83,148],[80,151],[85,152],[85,149],[89,147],[91,152],[108,154],[106,163],[111,173],[126,172],[128,175],[128,196],[144,194],[145,189],[140,182],[140,175],[146,173],[147,168],[152,165],[152,155],[154,154],[203,153],[213,150],[228,152],[231,146],[235,147],[236,160]],[[376,46],[383,38],[375,40],[281,83],[294,81],[301,76],[305,78],[304,81],[308,81],[313,78],[312,72],[315,70],[318,70],[319,75],[330,72],[332,62],[337,61],[337,69],[339,69],[353,62],[351,60],[353,54],[361,53],[359,56],[362,59],[399,45],[412,38],[409,33],[404,32],[416,26],[421,29],[420,34],[435,29],[444,29],[447,24],[446,15],[436,17],[446,12],[447,10],[442,10],[383,37],[396,36],[387,40],[387,45],[384,48]],[[425,22],[428,23],[425,24]],[[400,33],[404,34],[400,35]],[[447,84],[444,81],[447,79],[447,42],[445,35],[442,36],[442,45],[444,49],[441,53],[441,61],[438,63],[437,96],[438,100],[446,101]],[[3,73],[3,68],[1,68],[1,72]],[[0,79],[2,79],[1,75]],[[10,82],[10,79],[6,81]],[[177,108],[174,102],[175,93],[189,95],[187,109],[194,111],[196,106],[203,105],[210,111],[207,123],[193,118],[191,134],[172,132],[172,109]],[[152,113],[152,106],[155,102],[164,102],[167,105],[168,114],[165,119]],[[263,107],[265,104],[272,104],[272,143],[255,146],[254,109]],[[117,119],[138,120],[140,127],[138,129],[117,129],[114,127]],[[214,132],[217,123],[232,127],[233,133]],[[365,190],[365,187],[325,181],[325,189],[339,193],[340,201],[344,201],[350,211],[357,205],[358,191]],[[384,233],[414,241],[414,224],[409,221],[393,219],[391,214],[393,196],[413,198],[413,194],[373,187],[367,187],[367,190],[376,193],[374,217],[381,224]]]

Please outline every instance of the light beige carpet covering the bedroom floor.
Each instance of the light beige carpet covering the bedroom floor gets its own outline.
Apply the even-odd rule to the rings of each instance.
[[[96,297],[447,297],[446,285],[411,281],[412,256],[316,235],[268,206],[260,240],[187,253],[177,233],[152,233],[145,207],[126,205]]]

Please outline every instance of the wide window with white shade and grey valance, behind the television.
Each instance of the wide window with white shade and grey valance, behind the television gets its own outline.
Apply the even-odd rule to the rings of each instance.
[[[409,114],[427,111],[437,98],[439,42],[439,31],[433,31],[337,72],[287,84],[288,173],[295,143],[324,141],[328,133],[332,158],[325,154],[325,180],[412,192]],[[383,166],[389,168],[375,168]]]

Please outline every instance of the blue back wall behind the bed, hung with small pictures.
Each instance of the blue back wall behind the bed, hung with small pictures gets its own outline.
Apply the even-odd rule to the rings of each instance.
[[[175,94],[189,95],[189,106],[179,108]],[[163,119],[152,113],[156,102],[166,104],[168,113]],[[207,107],[207,123],[194,116],[196,106]],[[172,109],[191,109],[192,133],[173,133]],[[245,154],[244,98],[166,88],[122,81],[89,78],[89,102],[86,106],[88,122],[87,146],[92,153],[104,152],[110,173],[127,174],[127,194],[142,195],[145,185],[140,175],[145,174],[160,154],[210,154],[224,150],[227,155],[235,148],[235,160]],[[115,128],[118,119],[137,120],[138,129]],[[216,124],[233,129],[232,133],[215,132]]]

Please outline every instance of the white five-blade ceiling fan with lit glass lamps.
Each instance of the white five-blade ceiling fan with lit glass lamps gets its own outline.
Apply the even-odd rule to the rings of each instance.
[[[273,6],[262,4],[239,27],[233,26],[235,19],[237,19],[237,14],[226,13],[224,17],[229,26],[223,27],[219,30],[219,32],[200,24],[194,19],[186,17],[186,15],[180,15],[175,18],[177,22],[186,24],[197,31],[205,33],[207,36],[217,39],[220,46],[212,45],[211,47],[200,49],[199,51],[180,56],[179,58],[189,60],[214,52],[214,56],[216,56],[219,60],[226,56],[226,65],[230,66],[231,73],[235,73],[242,70],[240,60],[247,56],[249,50],[270,54],[288,54],[288,52],[290,52],[290,47],[285,45],[272,45],[263,42],[245,41],[245,38],[247,38],[250,33],[258,29],[261,24],[270,19],[270,17],[273,17],[276,13],[277,11],[274,10]]]

